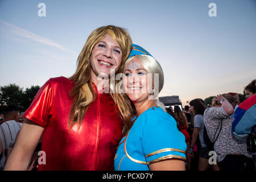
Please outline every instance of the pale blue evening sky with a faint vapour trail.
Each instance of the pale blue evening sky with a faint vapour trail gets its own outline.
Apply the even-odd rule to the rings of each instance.
[[[108,24],[159,61],[159,96],[179,96],[183,106],[243,93],[256,78],[256,0],[0,0],[0,86],[72,76],[89,34]]]

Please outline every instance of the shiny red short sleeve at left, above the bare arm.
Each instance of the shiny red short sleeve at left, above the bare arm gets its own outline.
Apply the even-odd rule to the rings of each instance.
[[[32,104],[23,116],[39,126],[46,127],[49,122],[49,110],[52,104],[52,86],[49,79],[36,93]]]

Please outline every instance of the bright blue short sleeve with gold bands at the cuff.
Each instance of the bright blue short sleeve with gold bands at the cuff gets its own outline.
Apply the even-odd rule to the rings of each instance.
[[[151,114],[144,125],[142,147],[148,164],[166,159],[186,160],[185,137],[177,129],[177,123],[171,115]]]

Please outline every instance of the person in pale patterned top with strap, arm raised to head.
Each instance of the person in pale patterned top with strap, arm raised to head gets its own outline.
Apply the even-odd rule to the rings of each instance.
[[[238,140],[231,133],[231,116],[236,105],[235,97],[222,94],[215,96],[213,106],[204,111],[205,128],[210,140],[214,142],[217,163],[224,171],[241,171],[246,158],[251,158],[246,150],[246,140]]]

